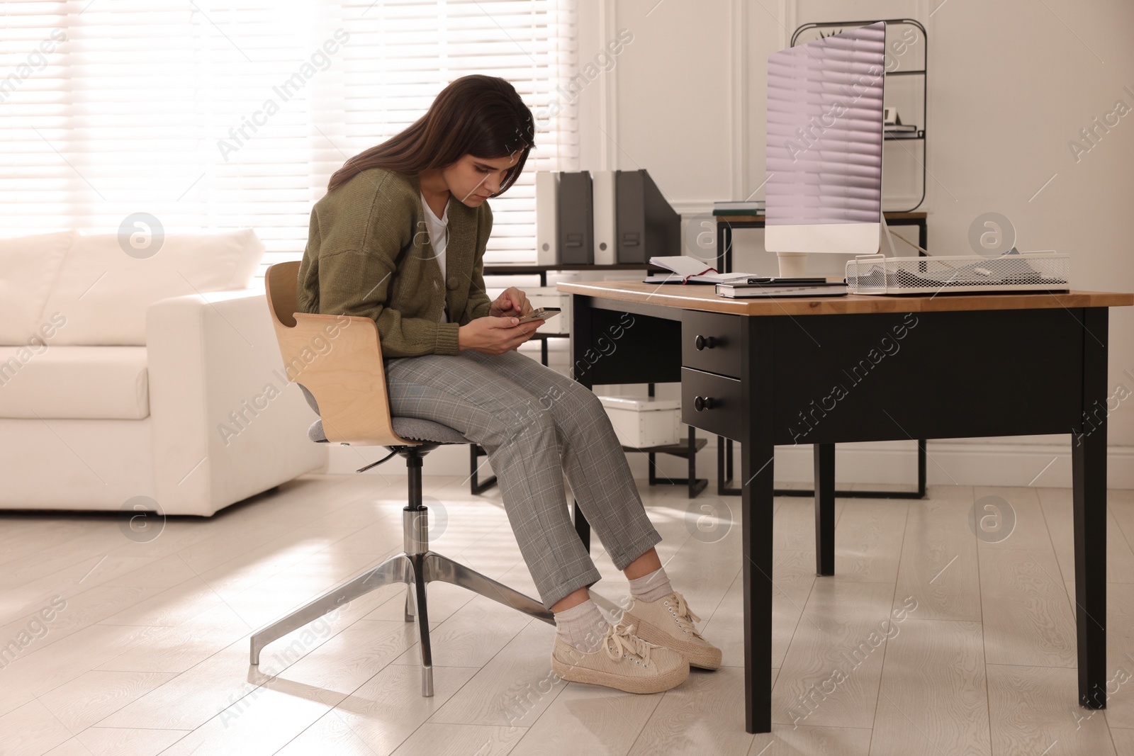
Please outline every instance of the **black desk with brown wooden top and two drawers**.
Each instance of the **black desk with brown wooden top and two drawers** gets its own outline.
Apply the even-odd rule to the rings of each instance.
[[[836,443],[1072,432],[1078,698],[1105,707],[1107,308],[1134,295],[744,300],[620,281],[559,290],[574,295],[576,380],[679,381],[682,422],[743,444],[748,732],[771,731],[777,444],[813,444],[816,572],[833,575]]]

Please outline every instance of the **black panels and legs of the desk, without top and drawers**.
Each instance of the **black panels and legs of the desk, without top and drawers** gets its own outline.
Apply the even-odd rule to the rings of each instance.
[[[1042,297],[1044,295],[1035,295]],[[645,383],[682,379],[683,309],[574,295],[576,380]],[[599,339],[625,313],[617,348]],[[742,445],[745,729],[771,731],[773,451],[798,442],[796,413],[826,396],[847,365],[877,347],[902,313],[741,318],[744,406],[706,430]],[[813,444],[816,568],[835,567],[835,444],[915,438],[1072,436],[1078,703],[1106,707],[1107,326],[1106,307],[919,312],[902,350],[803,439]],[[805,328],[812,338],[805,338]],[[1010,338],[1006,338],[1010,334]],[[815,346],[815,341],[823,345]],[[608,339],[609,340],[609,339]],[[964,345],[964,351],[955,349]],[[669,345],[671,347],[667,348]],[[799,369],[806,365],[806,369]],[[914,377],[916,380],[909,380]],[[992,387],[1010,387],[1010,392]],[[932,400],[929,400],[932,398]],[[688,422],[686,415],[683,419]],[[708,423],[701,423],[705,425]],[[727,427],[723,427],[727,425]],[[796,434],[793,438],[793,433]],[[590,525],[575,507],[590,545]]]

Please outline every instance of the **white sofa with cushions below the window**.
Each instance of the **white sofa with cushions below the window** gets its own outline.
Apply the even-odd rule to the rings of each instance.
[[[128,244],[0,240],[0,508],[210,516],[323,468],[255,233]]]

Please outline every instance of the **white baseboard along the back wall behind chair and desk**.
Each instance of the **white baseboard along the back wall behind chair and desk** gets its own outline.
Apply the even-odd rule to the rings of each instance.
[[[930,441],[926,444],[926,481],[930,485],[979,485],[1070,487],[1070,434],[1056,443],[1007,443],[996,441]],[[741,476],[738,444],[734,444],[734,478]],[[354,473],[386,456],[380,447],[332,447],[327,473]],[[648,476],[646,456],[627,453],[636,479]],[[482,476],[491,475],[486,458],[481,458]],[[658,475],[685,477],[687,464],[669,455],[658,455]],[[810,445],[776,449],[776,481],[782,484],[812,482]],[[847,443],[836,450],[836,482],[847,485],[908,485],[917,483],[917,448],[913,441]],[[381,470],[390,477],[404,475],[405,467],[392,459],[371,473]],[[468,475],[468,447],[441,447],[425,461],[425,475]],[[697,477],[717,481],[717,439],[697,453]],[[1134,447],[1111,447],[1107,457],[1107,487],[1134,489]],[[710,489],[712,490],[712,489]]]

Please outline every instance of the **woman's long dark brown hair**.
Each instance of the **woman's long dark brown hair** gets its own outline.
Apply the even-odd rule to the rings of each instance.
[[[416,176],[428,168],[450,165],[467,154],[496,159],[518,152],[519,160],[492,195],[499,196],[515,184],[534,145],[532,111],[511,84],[481,74],[462,76],[441,90],[413,126],[347,160],[331,175],[327,190],[333,192],[370,168]]]

